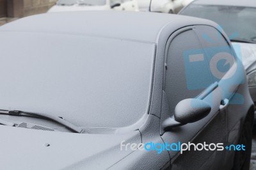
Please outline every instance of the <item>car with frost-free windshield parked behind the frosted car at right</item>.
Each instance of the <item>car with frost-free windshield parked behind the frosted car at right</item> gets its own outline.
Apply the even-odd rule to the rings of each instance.
[[[198,0],[179,14],[217,22],[231,42],[241,46],[250,93],[256,104],[256,1]]]

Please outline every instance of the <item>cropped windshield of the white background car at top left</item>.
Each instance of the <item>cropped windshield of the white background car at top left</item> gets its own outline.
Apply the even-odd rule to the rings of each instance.
[[[73,5],[84,4],[89,6],[102,6],[106,4],[106,0],[59,0],[57,5]]]

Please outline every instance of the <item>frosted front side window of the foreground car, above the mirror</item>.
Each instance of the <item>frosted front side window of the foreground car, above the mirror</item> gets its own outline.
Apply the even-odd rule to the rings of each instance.
[[[167,47],[164,91],[171,114],[186,98],[195,98],[213,81],[204,50],[193,29],[173,38]]]

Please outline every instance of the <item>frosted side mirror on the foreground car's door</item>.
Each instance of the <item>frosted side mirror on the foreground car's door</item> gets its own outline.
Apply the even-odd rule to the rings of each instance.
[[[163,122],[164,130],[173,127],[186,125],[198,120],[202,120],[211,112],[211,105],[197,98],[188,98],[179,102],[175,107],[172,118]]]

